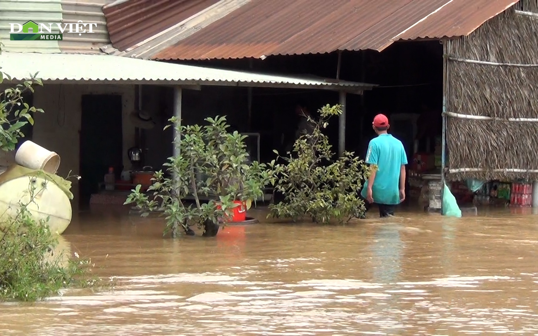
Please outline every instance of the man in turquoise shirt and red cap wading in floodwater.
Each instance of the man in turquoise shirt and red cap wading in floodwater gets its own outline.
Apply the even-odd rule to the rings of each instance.
[[[366,163],[370,177],[360,195],[366,199],[366,211],[373,203],[379,206],[379,216],[394,216],[394,208],[405,200],[405,165],[407,155],[402,142],[388,134],[388,119],[384,115],[373,118],[377,137],[370,140]]]

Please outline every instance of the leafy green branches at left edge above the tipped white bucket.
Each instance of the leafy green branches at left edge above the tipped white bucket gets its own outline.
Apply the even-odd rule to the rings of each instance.
[[[36,74],[37,75],[37,74]],[[0,84],[11,77],[0,70]],[[5,89],[0,92],[0,149],[12,151],[19,138],[24,137],[21,128],[30,123],[33,125],[32,113],[43,112],[24,102],[23,94],[34,91],[36,85],[43,85],[41,80],[24,81],[22,84]]]

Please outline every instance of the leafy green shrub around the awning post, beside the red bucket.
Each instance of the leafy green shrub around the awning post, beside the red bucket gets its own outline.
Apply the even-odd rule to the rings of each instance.
[[[140,191],[140,185],[132,190],[125,204],[136,203],[147,216],[148,211],[162,210],[166,217],[165,234],[180,234],[190,226],[203,227],[207,223],[218,224],[229,218],[240,201],[250,208],[263,196],[263,188],[270,180],[270,171],[258,162],[249,162],[245,135],[237,131],[229,133],[225,117],[206,118],[206,126],[181,125],[180,120],[170,119],[175,127],[174,144],[179,155],[168,158],[167,174],[158,171],[154,183],[148,188],[152,195]],[[186,199],[194,196],[195,204]],[[215,198],[208,203],[200,202],[200,195]]]

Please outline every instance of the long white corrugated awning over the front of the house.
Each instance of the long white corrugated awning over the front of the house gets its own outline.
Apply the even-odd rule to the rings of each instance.
[[[359,93],[373,84],[269,75],[236,70],[132,59],[112,55],[0,54],[2,72],[13,80],[30,79],[37,73],[43,82],[121,83],[161,85],[222,85],[265,88],[343,90]]]

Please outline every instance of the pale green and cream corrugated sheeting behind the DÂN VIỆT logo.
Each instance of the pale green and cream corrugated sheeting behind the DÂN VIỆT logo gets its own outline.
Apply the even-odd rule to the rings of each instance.
[[[102,6],[110,0],[0,0],[0,39],[4,51],[102,53],[108,44]],[[10,41],[10,23],[97,23],[95,33],[63,33],[63,41]]]

